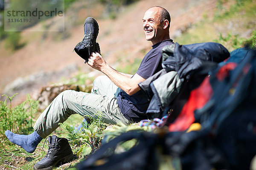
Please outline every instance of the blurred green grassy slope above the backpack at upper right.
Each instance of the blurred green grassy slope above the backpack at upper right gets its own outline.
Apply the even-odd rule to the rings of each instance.
[[[237,46],[232,46],[233,42],[224,41],[223,37],[231,35],[233,39],[237,37],[238,40],[245,40],[250,37],[250,33],[256,30],[256,3],[251,0],[244,0],[243,4],[233,4],[228,10],[219,11],[222,14],[217,15],[218,10],[215,11],[215,17],[207,18],[198,22],[186,34],[176,38],[176,42],[180,44],[191,44],[199,42],[220,42],[229,51],[242,47],[242,43]],[[249,31],[249,34],[244,34]],[[232,38],[230,38],[232,39]],[[232,41],[232,40],[231,40]]]

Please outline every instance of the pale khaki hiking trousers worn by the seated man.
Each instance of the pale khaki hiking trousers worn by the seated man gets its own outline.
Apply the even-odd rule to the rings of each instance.
[[[95,113],[102,113],[105,123],[131,123],[120,112],[116,95],[121,91],[107,76],[99,76],[93,82],[91,93],[66,90],[59,94],[44,110],[35,122],[34,129],[46,138],[71,114],[89,115],[97,118]]]

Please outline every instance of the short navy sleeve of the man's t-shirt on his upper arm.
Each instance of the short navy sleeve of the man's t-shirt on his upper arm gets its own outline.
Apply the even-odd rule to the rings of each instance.
[[[140,67],[138,68],[138,71],[136,73],[139,74],[144,79],[147,79],[148,77],[155,74],[157,72],[157,68],[160,67],[162,53],[160,51],[154,51],[144,59],[141,62]]]

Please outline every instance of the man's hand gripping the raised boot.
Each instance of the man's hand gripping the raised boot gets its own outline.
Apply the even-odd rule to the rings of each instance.
[[[88,62],[92,68],[102,71],[108,64],[99,53],[91,53]]]

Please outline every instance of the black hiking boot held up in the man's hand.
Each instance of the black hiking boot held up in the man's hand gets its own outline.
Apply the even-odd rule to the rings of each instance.
[[[84,39],[79,42],[74,50],[82,57],[86,63],[92,52],[98,52],[99,43],[96,42],[96,38],[99,34],[99,25],[92,17],[86,18],[84,21]]]

